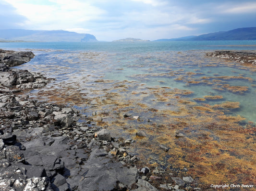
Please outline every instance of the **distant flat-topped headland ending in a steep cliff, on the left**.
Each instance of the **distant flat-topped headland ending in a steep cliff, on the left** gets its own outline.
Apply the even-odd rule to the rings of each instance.
[[[35,41],[35,42],[98,42],[92,34],[80,34],[63,30],[0,30],[1,41]]]

